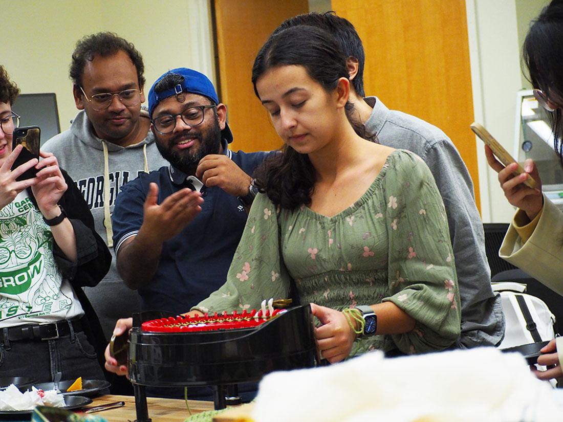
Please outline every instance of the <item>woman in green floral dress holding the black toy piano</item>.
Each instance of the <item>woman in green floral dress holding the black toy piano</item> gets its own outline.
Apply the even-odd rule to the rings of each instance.
[[[417,155],[356,133],[336,41],[310,26],[272,35],[252,80],[285,146],[257,176],[225,285],[194,310],[257,308],[293,281],[330,362],[450,347],[460,306],[441,196]],[[377,315],[374,335],[342,312],[360,305]]]

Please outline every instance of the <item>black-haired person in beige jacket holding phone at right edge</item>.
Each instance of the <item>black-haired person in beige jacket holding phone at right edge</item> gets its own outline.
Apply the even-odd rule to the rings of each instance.
[[[524,41],[523,55],[535,88],[534,95],[551,114],[555,151],[562,156],[563,1],[553,0],[535,19]],[[563,212],[542,194],[542,182],[533,160],[526,160],[525,172],[514,176],[516,163],[505,167],[488,146],[485,146],[485,154],[490,167],[498,173],[504,196],[518,208],[499,255],[563,294]],[[536,188],[525,185],[530,177],[535,180]],[[538,358],[538,363],[555,367],[537,371],[538,378],[563,376],[563,354],[558,357],[557,349],[563,351],[561,338],[552,340],[542,349],[545,354]]]

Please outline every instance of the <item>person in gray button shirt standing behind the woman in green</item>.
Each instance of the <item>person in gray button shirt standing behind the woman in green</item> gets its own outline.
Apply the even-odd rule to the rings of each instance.
[[[440,190],[455,255],[461,296],[461,336],[457,346],[497,345],[504,337],[501,298],[493,293],[485,254],[485,236],[475,205],[473,182],[453,142],[439,128],[414,116],[389,110],[364,93],[364,47],[354,25],[334,12],[298,15],[275,32],[309,25],[330,32],[348,56],[350,101],[368,133],[382,145],[413,151],[426,161]]]

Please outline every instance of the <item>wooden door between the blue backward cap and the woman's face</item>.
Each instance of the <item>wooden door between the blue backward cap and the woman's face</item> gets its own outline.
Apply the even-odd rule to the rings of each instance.
[[[254,58],[288,17],[307,13],[307,0],[214,0],[220,101],[227,105],[231,149],[269,151],[282,141],[252,87]]]

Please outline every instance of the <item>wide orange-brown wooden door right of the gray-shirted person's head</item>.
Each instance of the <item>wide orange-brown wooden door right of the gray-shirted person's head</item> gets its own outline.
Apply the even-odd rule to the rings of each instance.
[[[332,8],[363,41],[367,95],[442,129],[471,173],[480,208],[465,1],[332,0]]]

